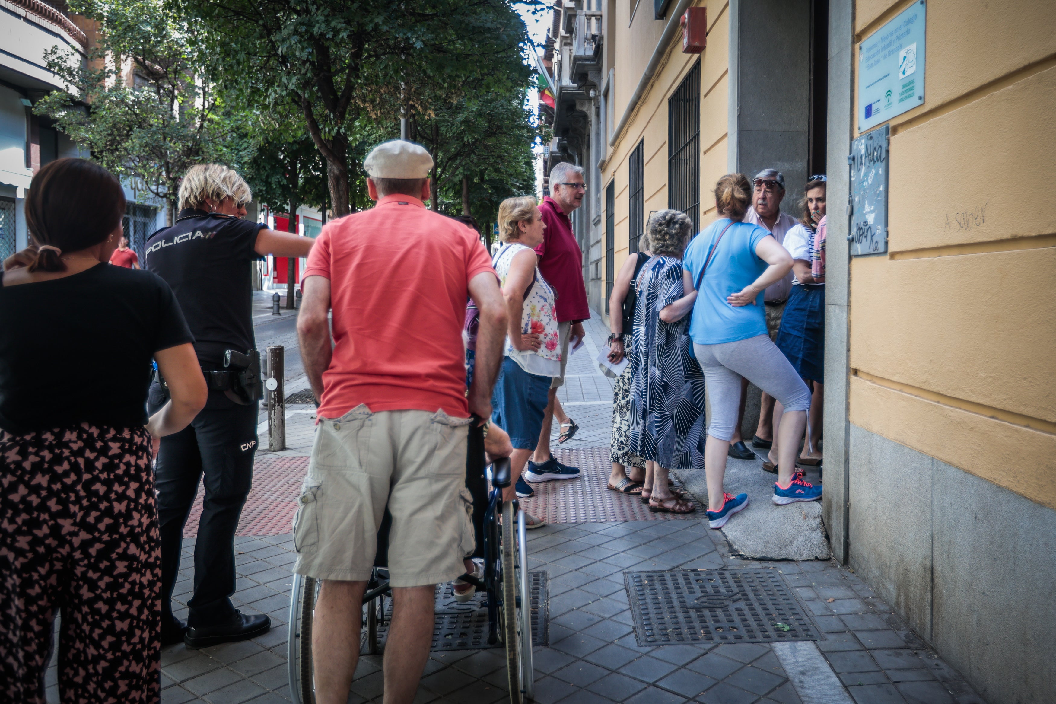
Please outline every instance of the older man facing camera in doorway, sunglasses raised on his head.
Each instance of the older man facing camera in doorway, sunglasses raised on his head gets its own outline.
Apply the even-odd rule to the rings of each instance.
[[[763,169],[752,180],[752,207],[744,213],[744,222],[758,225],[768,230],[777,244],[785,244],[785,235],[796,225],[794,217],[780,210],[785,198],[785,175],[776,169]],[[777,338],[781,326],[781,313],[792,291],[792,272],[767,287],[765,298],[767,308],[767,331],[770,339]],[[741,379],[740,408],[737,414],[737,427],[730,440],[730,456],[737,459],[754,459],[755,453],[744,445],[740,426],[744,420],[744,401],[748,396],[748,379]],[[769,394],[762,394],[759,400],[759,424],[752,438],[752,446],[769,450],[773,443],[774,399]]]

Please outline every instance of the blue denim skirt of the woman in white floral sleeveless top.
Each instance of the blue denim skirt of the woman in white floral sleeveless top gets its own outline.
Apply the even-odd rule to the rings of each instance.
[[[503,358],[491,392],[491,420],[510,434],[516,450],[534,450],[539,444],[552,382],[552,377],[528,374],[509,357]]]

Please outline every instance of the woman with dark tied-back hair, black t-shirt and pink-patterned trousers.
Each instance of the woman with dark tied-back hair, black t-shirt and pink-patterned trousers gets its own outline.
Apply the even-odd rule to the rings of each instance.
[[[42,702],[62,613],[63,702],[161,698],[151,444],[207,389],[172,291],[108,264],[125,194],[101,167],[34,177],[29,266],[0,274],[0,700]],[[12,261],[8,261],[8,266]],[[151,359],[172,400],[148,419]]]

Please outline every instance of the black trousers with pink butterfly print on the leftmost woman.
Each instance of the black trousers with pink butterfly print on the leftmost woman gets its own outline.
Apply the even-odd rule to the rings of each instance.
[[[143,427],[0,431],[0,701],[161,699],[161,543]]]

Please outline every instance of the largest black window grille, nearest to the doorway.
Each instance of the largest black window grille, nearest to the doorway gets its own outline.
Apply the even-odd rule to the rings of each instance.
[[[667,207],[700,230],[700,61],[667,99]]]

